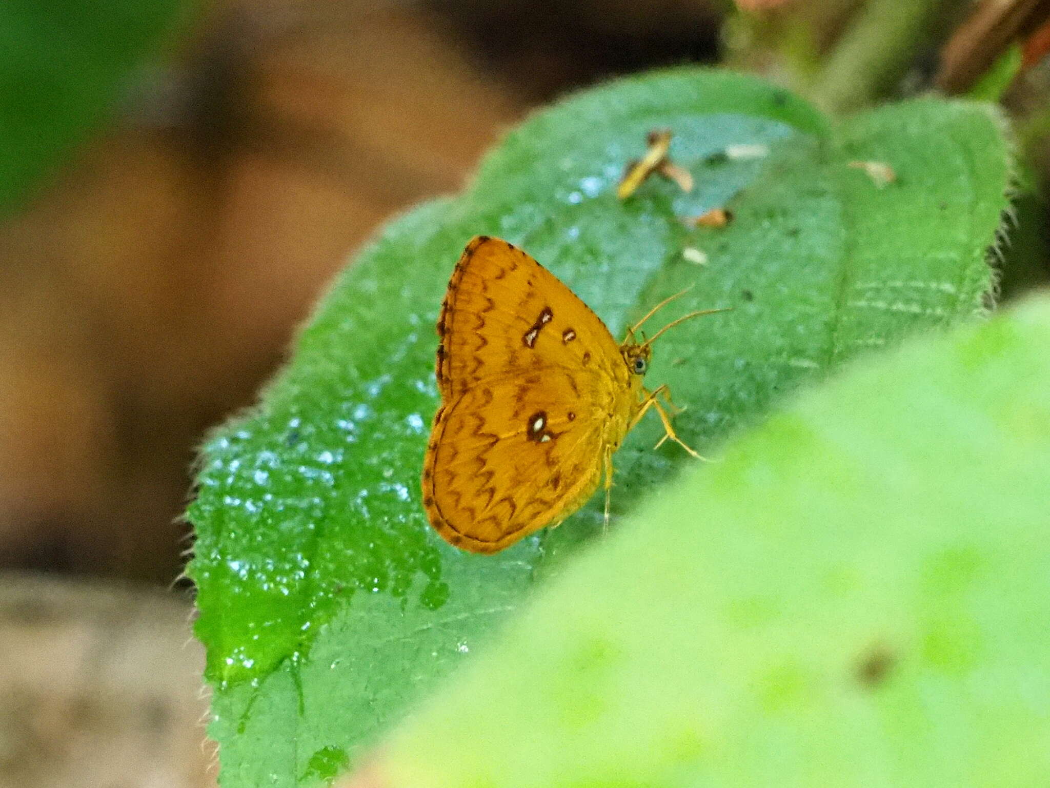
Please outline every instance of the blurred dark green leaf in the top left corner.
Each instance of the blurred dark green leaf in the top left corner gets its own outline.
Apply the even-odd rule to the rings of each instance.
[[[0,215],[98,126],[188,5],[0,4]]]

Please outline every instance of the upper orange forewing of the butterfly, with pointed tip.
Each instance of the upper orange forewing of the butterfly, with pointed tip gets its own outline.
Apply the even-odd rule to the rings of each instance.
[[[446,402],[475,383],[541,367],[624,377],[618,346],[552,273],[500,239],[467,244],[438,320],[438,386]]]

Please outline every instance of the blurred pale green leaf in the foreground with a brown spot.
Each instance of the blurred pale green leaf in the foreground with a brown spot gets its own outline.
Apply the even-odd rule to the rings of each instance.
[[[369,784],[1042,784],[1047,347],[1044,296],[807,392],[552,581]]]

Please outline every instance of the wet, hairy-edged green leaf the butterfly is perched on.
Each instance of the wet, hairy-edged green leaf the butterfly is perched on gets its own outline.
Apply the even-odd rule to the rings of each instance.
[[[652,181],[620,203],[625,162],[662,126],[695,190]],[[879,188],[854,159],[888,162],[897,182]],[[312,784],[317,753],[353,761],[601,530],[592,501],[486,557],[426,523],[434,324],[471,235],[523,246],[614,334],[690,284],[681,311],[733,306],[663,337],[649,373],[688,406],[680,432],[710,454],[843,360],[981,311],[1008,173],[983,105],[911,102],[833,131],[758,80],[681,69],[534,116],[462,196],[392,224],[335,284],[257,411],[205,448],[190,574],[225,784]],[[680,221],[717,206],[736,216],[723,230]],[[659,434],[644,422],[616,455],[617,513],[687,459],[651,451]]]

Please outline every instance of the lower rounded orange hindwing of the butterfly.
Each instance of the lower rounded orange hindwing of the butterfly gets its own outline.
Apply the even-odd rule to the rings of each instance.
[[[476,383],[435,418],[423,503],[453,544],[495,553],[570,513],[602,475],[593,389],[537,366]]]

